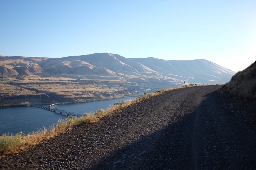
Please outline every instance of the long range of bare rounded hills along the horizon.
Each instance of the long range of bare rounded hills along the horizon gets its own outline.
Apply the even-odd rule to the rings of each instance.
[[[208,60],[125,58],[96,53],[62,58],[0,56],[0,77],[17,75],[67,77],[80,80],[120,80],[146,87],[174,87],[186,83],[223,84],[235,74]]]

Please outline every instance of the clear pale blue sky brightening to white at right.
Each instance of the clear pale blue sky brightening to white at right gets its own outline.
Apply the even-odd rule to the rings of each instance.
[[[256,60],[255,0],[0,0],[0,55]]]

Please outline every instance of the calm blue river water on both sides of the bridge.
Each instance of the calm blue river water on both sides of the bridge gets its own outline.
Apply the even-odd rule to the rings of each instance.
[[[134,100],[136,97],[124,97],[108,100],[100,100],[78,104],[55,105],[51,108],[59,108],[76,114],[93,113],[99,109],[108,108],[114,103]],[[47,107],[47,106],[45,106]],[[49,127],[56,124],[58,120],[65,119],[65,114],[58,114],[48,110],[36,107],[12,107],[0,109],[0,134],[9,132],[9,134],[31,133],[38,131],[40,128]]]

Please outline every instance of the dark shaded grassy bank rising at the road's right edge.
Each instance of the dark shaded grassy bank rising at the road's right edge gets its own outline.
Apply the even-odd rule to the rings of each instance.
[[[244,116],[256,123],[256,61],[237,72],[228,83],[222,85],[220,92],[237,104],[249,108],[248,115]]]

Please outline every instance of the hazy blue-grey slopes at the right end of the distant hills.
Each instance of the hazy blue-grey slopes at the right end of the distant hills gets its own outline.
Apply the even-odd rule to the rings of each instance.
[[[232,70],[226,69],[208,60],[161,60],[157,58],[133,58],[158,73],[184,79],[190,83],[214,84],[225,83],[234,74]]]

